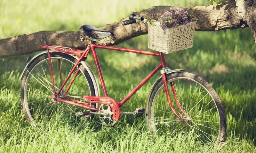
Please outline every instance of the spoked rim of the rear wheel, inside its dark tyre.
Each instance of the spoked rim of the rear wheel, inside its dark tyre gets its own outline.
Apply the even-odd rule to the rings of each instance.
[[[60,68],[61,66],[61,76],[62,82],[65,81],[68,73],[71,71],[74,62],[64,57],[51,57],[52,60],[52,69],[54,76],[54,85],[56,92],[60,89],[61,79],[60,79]],[[29,122],[34,126],[38,125],[38,122],[42,123],[46,120],[49,120],[53,117],[54,114],[58,114],[56,117],[61,119],[67,119],[67,121],[79,123],[81,120],[86,120],[86,117],[77,117],[74,112],[85,111],[83,108],[67,105],[60,103],[59,105],[54,103],[52,100],[52,81],[49,70],[49,59],[46,58],[38,62],[29,72],[24,85],[24,107],[26,113],[28,114]],[[76,69],[77,70],[77,69]],[[75,71],[76,71],[75,70]],[[74,98],[77,100],[83,101],[83,95],[91,95],[90,86],[85,79],[82,69],[79,69],[74,83],[70,87],[67,96],[69,98]],[[71,78],[73,78],[71,75]],[[64,91],[70,83],[71,79],[64,86]],[[61,107],[61,106],[64,107]],[[69,111],[66,108],[69,109]],[[79,124],[78,124],[79,126]]]

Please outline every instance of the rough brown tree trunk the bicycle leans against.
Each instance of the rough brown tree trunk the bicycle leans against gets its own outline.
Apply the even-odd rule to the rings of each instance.
[[[216,7],[209,6],[187,6],[184,7],[189,14],[198,18],[196,31],[218,31],[223,29],[236,29],[250,27],[256,42],[256,2],[253,0],[231,0]],[[152,8],[135,12],[137,16],[148,16],[151,13],[164,13],[175,6],[153,6]],[[114,36],[98,41],[98,44],[116,45],[133,37],[147,34],[148,30],[144,24],[136,23],[122,26],[121,22],[112,23],[101,27],[108,30]],[[54,44],[59,46],[84,49],[88,41],[80,41],[79,31],[41,31],[29,35],[16,36],[0,40],[0,58],[13,55],[24,55],[39,50],[42,44]]]

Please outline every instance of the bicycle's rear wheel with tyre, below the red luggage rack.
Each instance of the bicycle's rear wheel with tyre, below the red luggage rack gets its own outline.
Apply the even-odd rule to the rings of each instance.
[[[59,91],[61,85],[68,77],[69,72],[74,67],[77,60],[71,55],[52,52],[52,72],[54,78],[55,91]],[[67,94],[63,94],[74,77]],[[42,125],[48,120],[63,120],[77,123],[80,126],[82,121],[88,121],[88,116],[78,117],[77,112],[86,111],[84,108],[68,105],[62,102],[54,102],[52,95],[52,79],[49,66],[48,54],[37,57],[27,68],[21,85],[21,105],[26,119],[34,126]],[[76,100],[84,101],[83,95],[95,96],[95,89],[92,78],[82,64],[78,64],[76,70],[71,75],[64,86],[61,96],[67,96]],[[95,104],[92,106],[95,107]],[[88,111],[88,110],[87,110]]]

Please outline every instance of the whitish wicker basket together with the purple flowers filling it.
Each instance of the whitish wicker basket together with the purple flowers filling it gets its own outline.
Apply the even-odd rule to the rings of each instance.
[[[148,48],[170,54],[193,47],[196,18],[179,8],[163,15],[150,14],[148,20]]]

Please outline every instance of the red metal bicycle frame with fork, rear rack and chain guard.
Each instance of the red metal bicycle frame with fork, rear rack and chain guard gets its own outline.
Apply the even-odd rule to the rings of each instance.
[[[96,67],[97,67],[97,71],[98,71],[98,75],[100,77],[100,83],[101,83],[101,86],[102,86],[102,89],[103,89],[104,97],[84,95],[84,99],[85,99],[86,102],[89,102],[89,103],[100,103],[100,104],[104,104],[103,102],[100,102],[100,101],[106,101],[106,100],[110,101],[109,103],[111,103],[111,105],[113,106],[112,109],[115,109],[116,112],[117,112],[117,115],[115,117],[113,116],[113,120],[119,120],[119,116],[120,116],[119,107],[124,105],[124,103],[126,103],[127,100],[129,100],[129,98],[131,98],[132,95],[134,95],[136,93],[136,91],[138,91],[151,77],[153,77],[156,74],[157,71],[159,71],[160,69],[166,69],[167,68],[165,58],[164,58],[164,53],[161,53],[161,52],[151,52],[151,51],[123,48],[123,47],[113,47],[113,46],[99,45],[99,44],[94,44],[94,43],[90,43],[87,46],[87,48],[85,49],[85,51],[81,51],[81,50],[75,49],[75,48],[52,46],[52,45],[41,45],[40,47],[47,48],[47,51],[48,51],[49,66],[50,66],[51,77],[52,77],[53,93],[56,93],[56,91],[55,91],[55,87],[54,87],[54,79],[53,79],[53,74],[52,74],[52,62],[51,62],[51,57],[50,57],[50,51],[49,50],[51,49],[51,50],[55,50],[55,51],[58,51],[58,52],[65,53],[65,54],[73,54],[73,55],[76,55],[79,58],[79,60],[76,62],[74,67],[71,69],[70,73],[68,74],[68,77],[66,78],[66,80],[64,82],[62,82],[61,69],[60,69],[60,80],[61,80],[62,85],[61,85],[59,91],[55,94],[55,97],[54,96],[53,97],[56,98],[56,100],[60,101],[60,102],[64,102],[64,103],[74,105],[74,106],[83,107],[85,109],[89,109],[89,110],[92,110],[92,111],[99,111],[98,108],[92,107],[92,106],[90,106],[90,104],[87,104],[87,103],[84,103],[82,101],[72,99],[72,98],[68,98],[68,100],[66,100],[66,99],[63,99],[59,96],[60,92],[63,92],[63,88],[67,84],[71,75],[73,73],[75,73],[74,77],[70,81],[70,83],[69,83],[66,91],[64,92],[64,94],[66,94],[68,92],[70,86],[73,84],[74,79],[76,78],[76,75],[79,73],[79,69],[76,70],[77,65],[79,64],[79,62],[82,61],[82,59],[84,57],[86,58],[88,56],[90,51],[92,51],[92,56],[94,58],[94,61],[95,61]],[[99,63],[95,48],[131,52],[131,53],[137,53],[137,54],[143,54],[143,55],[158,56],[158,57],[160,57],[161,62],[123,100],[121,100],[120,102],[117,102],[116,100],[108,97],[107,88],[106,88],[106,85],[105,85],[105,82],[104,82],[104,79],[103,79],[103,75],[102,75],[102,72],[101,72],[101,69],[100,69],[100,63]],[[76,72],[75,72],[75,70],[76,70]],[[184,121],[184,119],[182,119],[180,117],[180,115],[176,112],[176,110],[173,108],[172,101],[171,101],[171,98],[170,98],[170,93],[166,92],[166,91],[169,91],[169,90],[168,90],[167,79],[166,79],[165,73],[162,73],[161,75],[162,75],[163,83],[164,83],[164,91],[163,92],[165,92],[165,94],[166,94],[169,106],[170,106],[172,112],[175,114],[175,116],[177,116],[180,121]],[[171,87],[172,87],[172,92],[173,92],[173,95],[174,95],[176,105],[178,106],[180,111],[185,116],[187,116],[187,113],[180,106],[180,103],[178,101],[177,94],[176,94],[176,91],[175,91],[175,86],[172,82],[171,82]]]

